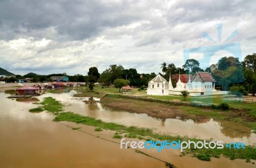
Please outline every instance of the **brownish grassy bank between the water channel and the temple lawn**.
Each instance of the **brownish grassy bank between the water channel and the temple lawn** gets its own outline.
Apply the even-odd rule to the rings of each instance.
[[[256,130],[256,116],[250,110],[221,110],[204,109],[192,106],[174,106],[163,102],[147,102],[136,99],[129,99],[120,95],[107,95],[100,102],[103,106],[112,109],[125,110],[134,113],[147,113],[157,118],[176,118],[193,119],[200,122],[207,118],[218,120],[229,120],[240,122]],[[124,105],[125,104],[125,105]]]

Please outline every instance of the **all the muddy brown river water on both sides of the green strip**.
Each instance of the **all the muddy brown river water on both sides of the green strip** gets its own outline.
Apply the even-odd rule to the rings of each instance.
[[[255,134],[244,125],[232,122],[152,118],[145,114],[113,111],[96,104],[82,102],[88,98],[75,98],[71,91],[63,94],[44,94],[38,97],[54,97],[65,104],[65,111],[99,118],[105,122],[148,127],[156,132],[212,138],[221,141],[240,141],[255,144]],[[95,132],[93,127],[70,122],[52,122],[54,116],[43,111],[29,113],[38,107],[31,102],[6,99],[8,94],[0,92],[0,167],[165,167],[164,162],[136,153],[132,149],[121,150],[113,132]],[[82,127],[82,131],[70,127]],[[88,132],[90,134],[86,134]],[[106,141],[100,139],[116,141]],[[127,140],[128,141],[128,140]],[[204,162],[197,158],[179,157],[179,150],[142,150],[148,155],[174,164],[176,167],[255,167],[245,160],[212,158]]]

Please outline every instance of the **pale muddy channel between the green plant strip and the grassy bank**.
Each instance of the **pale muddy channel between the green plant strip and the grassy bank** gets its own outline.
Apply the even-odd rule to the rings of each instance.
[[[63,94],[45,94],[44,97],[51,96],[65,104],[65,111],[72,111],[85,116],[101,119],[104,122],[115,122],[127,126],[148,127],[157,132],[165,132],[173,135],[197,137],[200,139],[214,139],[215,141],[243,142],[245,144],[256,144],[256,134],[252,129],[237,122],[202,120],[160,119],[150,117],[146,114],[129,113],[126,111],[113,111],[102,108],[99,102],[95,104],[85,104],[83,100],[89,98],[72,97],[76,94],[73,90]],[[95,98],[95,100],[99,100]]]

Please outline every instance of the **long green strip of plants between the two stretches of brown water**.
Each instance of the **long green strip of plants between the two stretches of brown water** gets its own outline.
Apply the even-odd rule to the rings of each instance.
[[[81,116],[74,113],[60,113],[60,115],[54,118],[55,122],[67,121],[67,122],[75,122],[75,123],[83,123],[84,125],[90,125],[101,129],[106,130],[114,130],[117,133],[115,134],[115,138],[121,138],[120,133],[127,133],[126,137],[144,137],[143,139],[153,139],[168,142],[172,141],[203,141],[202,139],[188,138],[188,137],[180,137],[180,136],[170,136],[168,134],[157,134],[152,131],[152,129],[147,128],[139,128],[139,127],[127,127],[125,125],[120,125],[117,123],[108,123],[102,122],[102,120],[96,120],[95,118],[91,118],[88,116]],[[256,148],[253,146],[246,146],[245,149],[186,149],[184,151],[184,155],[189,154],[193,157],[196,157],[200,160],[211,160],[211,157],[219,158],[220,155],[228,157],[230,159],[241,158],[241,159],[254,159],[256,160]]]

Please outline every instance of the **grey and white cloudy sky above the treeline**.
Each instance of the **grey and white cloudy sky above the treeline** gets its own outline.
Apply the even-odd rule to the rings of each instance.
[[[85,75],[92,66],[101,73],[122,64],[159,73],[163,62],[182,66],[185,49],[228,43],[240,43],[245,57],[256,52],[255,11],[253,0],[0,0],[0,67]]]

